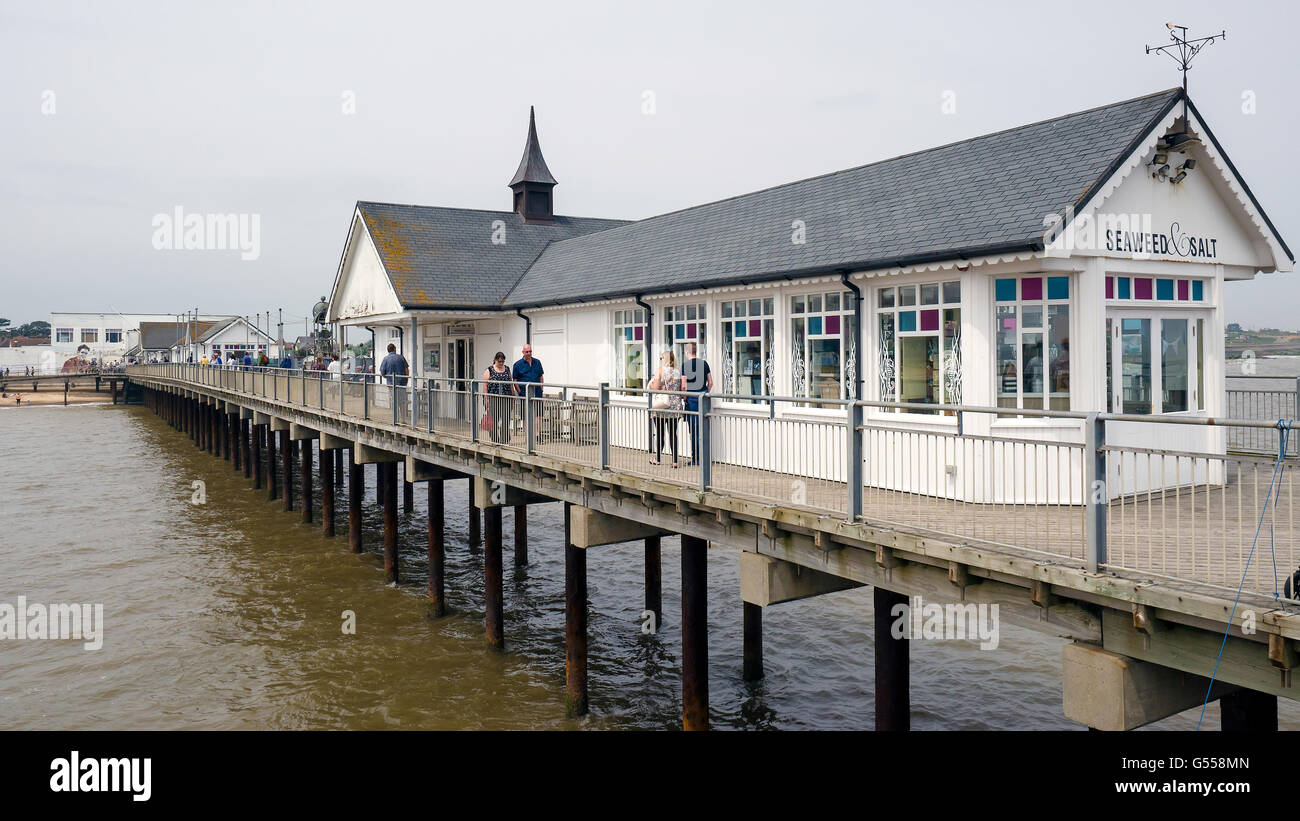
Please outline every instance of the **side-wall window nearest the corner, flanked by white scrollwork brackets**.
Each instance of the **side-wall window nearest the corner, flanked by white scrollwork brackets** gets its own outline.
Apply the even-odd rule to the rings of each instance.
[[[880,399],[962,401],[962,283],[879,288]]]

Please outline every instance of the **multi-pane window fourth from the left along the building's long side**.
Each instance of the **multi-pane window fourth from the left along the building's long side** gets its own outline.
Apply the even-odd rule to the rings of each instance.
[[[794,395],[854,399],[857,318],[845,291],[790,297]]]

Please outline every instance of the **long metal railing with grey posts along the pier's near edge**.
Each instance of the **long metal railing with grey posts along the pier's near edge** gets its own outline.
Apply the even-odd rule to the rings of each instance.
[[[407,378],[389,385],[326,372],[187,364],[131,373],[1092,572],[1217,590],[1235,590],[1244,577],[1247,592],[1271,596],[1300,560],[1292,482],[1300,461],[1284,459],[1274,478],[1277,420],[607,383]],[[1228,440],[1238,430],[1249,431],[1262,452],[1271,447],[1271,457],[1232,452]],[[1247,569],[1257,529],[1269,540],[1256,546]]]

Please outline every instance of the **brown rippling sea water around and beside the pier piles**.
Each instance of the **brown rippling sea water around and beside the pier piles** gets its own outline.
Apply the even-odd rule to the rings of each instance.
[[[103,603],[99,651],[0,642],[4,729],[578,729],[680,726],[680,560],[663,543],[664,624],[642,635],[640,543],[588,559],[592,716],[564,717],[562,507],[530,508],[526,568],[506,534],[506,652],[482,639],[482,552],[465,483],[447,483],[447,596],[425,614],[425,495],[402,514],[402,569],[384,585],[367,469],[367,552],[266,501],[143,408],[0,410],[0,601]],[[191,483],[207,485],[194,505]],[[318,488],[317,488],[318,504]],[[767,678],[741,681],[737,557],[708,553],[715,727],[870,729],[871,591],[767,608]],[[341,630],[356,613],[356,635]],[[915,729],[1067,729],[1063,642],[1001,625],[1001,644],[913,642]],[[1300,727],[1283,701],[1283,725]],[[1206,726],[1218,727],[1217,708]],[[1190,729],[1196,712],[1157,726]]]

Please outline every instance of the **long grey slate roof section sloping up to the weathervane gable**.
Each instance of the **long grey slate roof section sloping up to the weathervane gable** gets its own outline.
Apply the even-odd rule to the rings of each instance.
[[[1040,248],[1178,88],[551,243],[507,308]],[[792,242],[796,220],[806,242]]]

